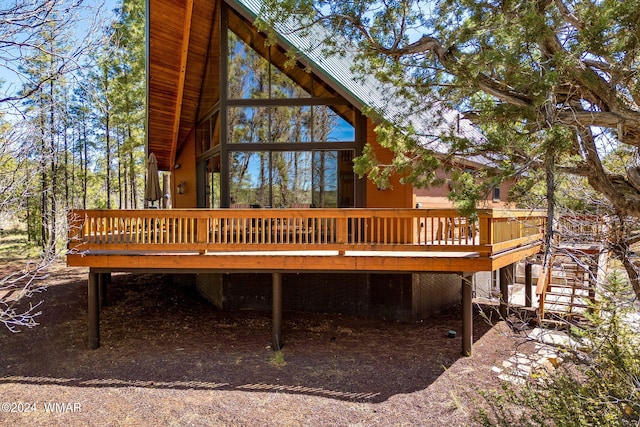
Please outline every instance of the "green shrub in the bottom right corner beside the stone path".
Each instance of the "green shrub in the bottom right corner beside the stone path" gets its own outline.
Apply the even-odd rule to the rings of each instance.
[[[503,383],[485,391],[482,425],[631,426],[640,423],[640,311],[629,282],[610,276],[589,314],[592,326],[573,329],[583,346],[568,350],[552,373],[537,373],[524,386]]]

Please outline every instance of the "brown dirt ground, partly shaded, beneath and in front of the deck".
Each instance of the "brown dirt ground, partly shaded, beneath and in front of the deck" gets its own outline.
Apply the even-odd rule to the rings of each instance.
[[[0,330],[0,425],[475,425],[478,390],[523,341],[478,316],[462,357],[459,308],[416,324],[285,312],[275,353],[270,313],[120,274],[89,350],[86,277],[60,268],[36,296],[40,326]]]

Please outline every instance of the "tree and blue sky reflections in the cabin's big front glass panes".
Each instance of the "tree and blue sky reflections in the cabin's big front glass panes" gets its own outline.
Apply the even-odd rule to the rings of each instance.
[[[228,37],[228,95],[220,112],[229,150],[228,181],[222,177],[220,185],[223,193],[228,189],[228,205],[353,207],[354,110],[344,101],[307,102],[309,92],[262,56],[270,50],[256,47],[258,53],[231,31]],[[209,132],[218,138],[215,126]]]

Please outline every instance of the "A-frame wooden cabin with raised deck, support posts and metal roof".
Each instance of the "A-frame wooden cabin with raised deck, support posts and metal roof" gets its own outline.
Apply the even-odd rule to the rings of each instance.
[[[390,161],[362,112],[379,85],[320,49],[291,65],[287,51],[313,40],[265,43],[257,0],[148,8],[148,152],[171,175],[172,209],[71,213],[68,265],[91,268],[91,345],[108,274],[152,270],[195,275],[224,308],[272,308],[274,348],[283,307],[414,321],[462,295],[469,354],[471,283],[537,253],[543,214],[505,209],[500,189],[472,221],[446,189],[358,178],[365,144]]]

